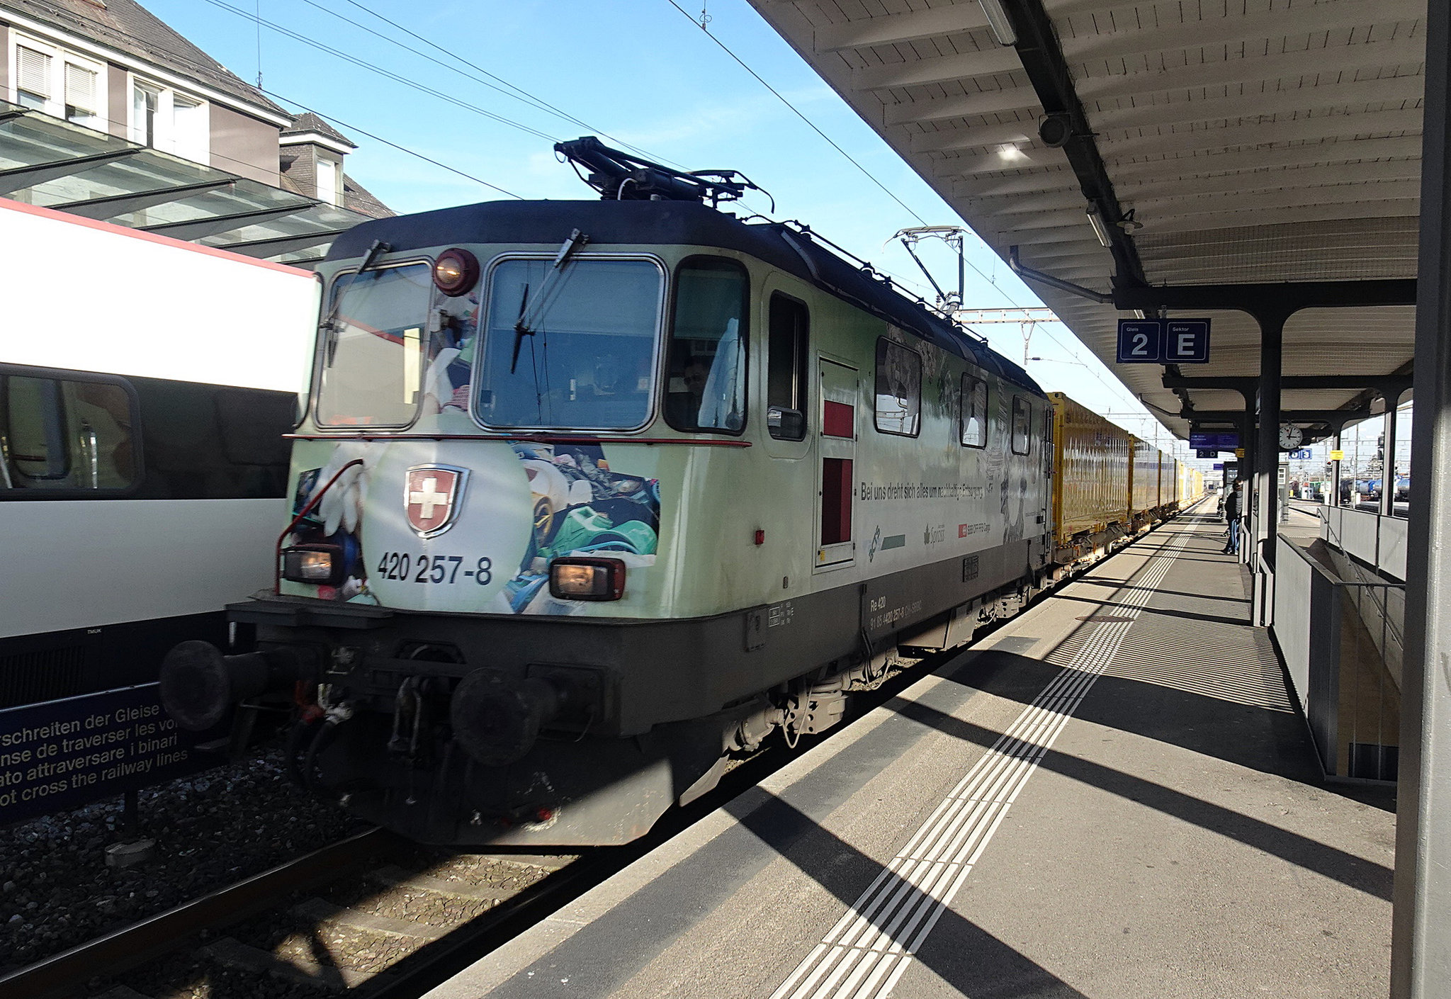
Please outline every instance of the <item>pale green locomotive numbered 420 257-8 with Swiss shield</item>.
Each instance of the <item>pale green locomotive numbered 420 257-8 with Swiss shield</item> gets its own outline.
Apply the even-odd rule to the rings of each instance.
[[[563,151],[604,200],[332,245],[258,651],[163,666],[189,727],[297,697],[300,777],[434,844],[633,839],[1084,558],[1066,401],[728,179]],[[1122,537],[1180,497],[1119,450]]]

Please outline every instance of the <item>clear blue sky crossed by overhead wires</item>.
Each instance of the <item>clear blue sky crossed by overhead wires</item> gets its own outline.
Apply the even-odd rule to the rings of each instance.
[[[142,1],[242,78],[254,81],[260,64],[263,87],[279,103],[311,107],[334,119],[360,147],[348,158],[350,176],[399,212],[501,195],[370,139],[363,131],[524,197],[588,197],[589,190],[573,171],[556,161],[551,145],[553,139],[595,131],[686,168],[740,170],[775,196],[775,218],[801,219],[923,292],[924,282],[903,248],[889,241],[892,234],[920,224],[913,212],[932,224],[961,221],[744,0],[678,1],[696,17],[705,1],[710,30],[911,211],[813,132],[669,0],[360,0],[361,6],[351,0]],[[280,28],[522,128],[419,93],[267,26],[261,28],[258,58],[258,28],[251,19],[258,9],[264,20]],[[408,38],[369,12],[591,128],[489,89],[480,83],[488,77],[479,70]],[[747,205],[762,212],[769,208],[760,196]],[[926,253],[939,280],[955,280],[955,261],[945,250]],[[968,270],[969,308],[1040,305],[981,242],[969,242],[968,258],[982,272],[979,276]],[[1000,351],[1022,360],[1023,340],[1016,324],[979,331]],[[1066,327],[1039,327],[1032,354],[1049,359],[1029,366],[1045,388],[1068,392],[1130,430],[1154,436],[1158,424]],[[1135,411],[1143,415],[1135,418]],[[1159,428],[1159,439],[1167,444],[1168,431]]]

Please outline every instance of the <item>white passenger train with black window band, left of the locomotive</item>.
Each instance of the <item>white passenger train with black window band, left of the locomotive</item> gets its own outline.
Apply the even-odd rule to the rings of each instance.
[[[312,273],[0,199],[0,707],[157,680],[271,584]]]

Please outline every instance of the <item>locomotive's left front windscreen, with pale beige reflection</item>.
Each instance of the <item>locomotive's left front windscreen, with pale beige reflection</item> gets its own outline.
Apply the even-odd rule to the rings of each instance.
[[[418,412],[422,341],[432,292],[424,263],[340,274],[324,331],[318,423],[406,427]]]

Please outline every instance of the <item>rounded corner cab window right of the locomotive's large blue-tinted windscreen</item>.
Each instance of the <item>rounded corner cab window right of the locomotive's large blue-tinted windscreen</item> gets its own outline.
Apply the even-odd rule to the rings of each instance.
[[[665,418],[676,430],[739,434],[746,425],[750,277],[724,257],[691,257],[675,273]]]

